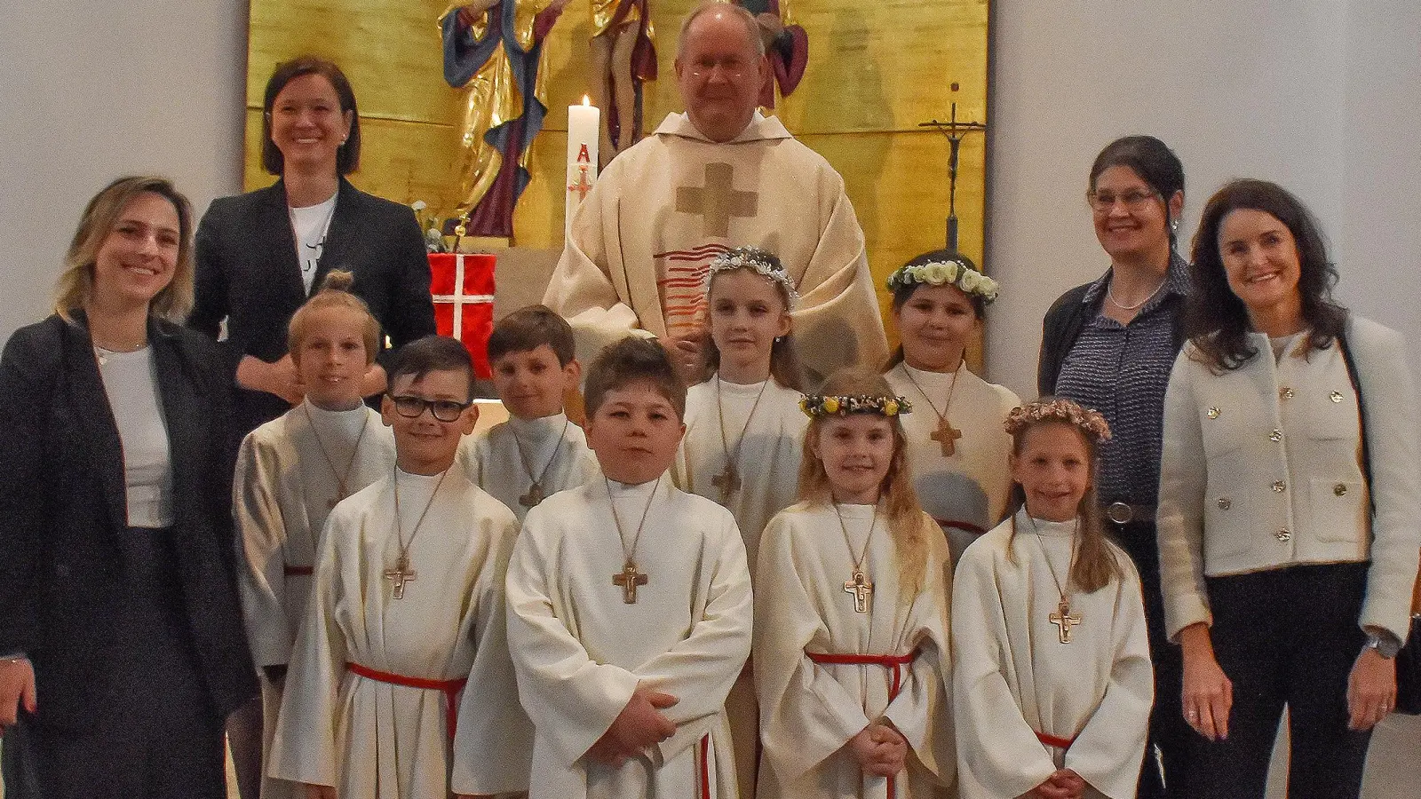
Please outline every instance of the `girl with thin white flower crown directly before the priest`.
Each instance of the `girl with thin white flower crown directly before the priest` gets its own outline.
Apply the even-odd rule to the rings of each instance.
[[[736,247],[706,273],[709,360],[715,368],[686,392],[686,434],[672,466],[682,490],[735,515],[755,566],[760,532],[794,502],[806,419],[799,409],[800,365],[790,338],[799,294],[780,260]],[[726,698],[740,796],[755,796],[759,717],[750,670]]]

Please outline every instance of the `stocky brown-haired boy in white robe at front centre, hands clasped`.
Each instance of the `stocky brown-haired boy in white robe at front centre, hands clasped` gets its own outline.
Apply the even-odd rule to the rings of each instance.
[[[750,650],[750,576],[730,513],[666,473],[684,404],[658,344],[604,350],[587,441],[605,478],[531,509],[514,546],[533,799],[736,796],[723,704]]]

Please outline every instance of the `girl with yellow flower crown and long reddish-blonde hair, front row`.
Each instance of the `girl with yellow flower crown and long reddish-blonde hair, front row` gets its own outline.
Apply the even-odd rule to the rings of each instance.
[[[759,796],[942,796],[952,566],[908,475],[914,407],[861,368],[820,391],[801,405],[800,502],[770,520],[756,566]]]

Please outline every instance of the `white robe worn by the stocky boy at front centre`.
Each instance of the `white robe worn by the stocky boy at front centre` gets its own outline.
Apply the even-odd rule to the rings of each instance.
[[[631,594],[614,584],[627,556],[612,502],[628,536],[645,513],[634,554],[647,581]],[[533,799],[735,799],[723,704],[750,650],[752,600],[726,509],[681,492],[669,473],[550,496],[523,523],[507,603],[536,729]],[[638,685],[679,699],[661,711],[675,734],[620,768],[588,755]]]

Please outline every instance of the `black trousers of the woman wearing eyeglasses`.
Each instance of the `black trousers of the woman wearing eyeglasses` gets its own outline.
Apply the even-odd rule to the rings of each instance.
[[[1115,543],[1121,546],[1140,572],[1140,587],[1145,599],[1145,630],[1150,634],[1150,660],[1154,663],[1155,702],[1150,712],[1150,738],[1145,761],[1140,769],[1140,799],[1192,799],[1181,759],[1188,738],[1195,735],[1184,721],[1184,660],[1179,647],[1164,633],[1164,594],[1160,591],[1160,545],[1154,522],[1117,525],[1106,520]],[[1162,775],[1162,776],[1161,776]]]

